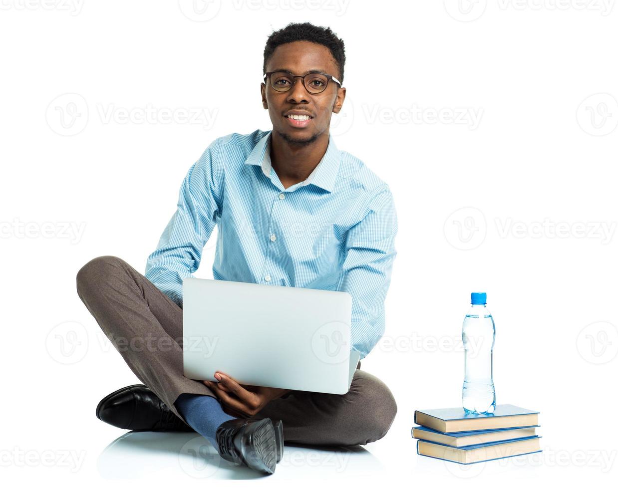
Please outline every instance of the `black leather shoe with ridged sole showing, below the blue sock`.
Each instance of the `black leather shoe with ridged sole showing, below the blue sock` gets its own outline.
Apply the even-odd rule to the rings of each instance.
[[[277,437],[270,418],[229,419],[219,425],[215,435],[221,458],[264,474],[274,474]]]

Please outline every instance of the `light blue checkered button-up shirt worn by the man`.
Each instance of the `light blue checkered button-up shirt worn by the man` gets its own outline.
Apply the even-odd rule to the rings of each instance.
[[[360,159],[339,151],[332,135],[307,180],[284,188],[271,166],[270,135],[233,133],[206,148],[182,182],[145,276],[182,307],[182,279],[200,266],[217,225],[216,280],[350,293],[351,349],[363,359],[384,334],[397,254],[391,191]]]

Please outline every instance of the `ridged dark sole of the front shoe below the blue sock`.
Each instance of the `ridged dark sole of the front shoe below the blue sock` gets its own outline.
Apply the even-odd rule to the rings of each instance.
[[[277,441],[270,418],[245,425],[241,455],[248,467],[274,474],[277,465]]]

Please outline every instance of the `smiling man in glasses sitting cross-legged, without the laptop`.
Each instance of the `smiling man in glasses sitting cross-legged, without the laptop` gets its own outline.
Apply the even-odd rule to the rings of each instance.
[[[261,84],[273,129],[208,146],[188,170],[145,275],[114,256],[79,270],[78,295],[145,384],[103,398],[99,419],[195,430],[222,458],[266,474],[284,440],[364,445],[386,435],[397,404],[360,362],[345,395],[239,385],[225,372],[215,374],[219,382],[182,375],[182,279],[198,269],[215,225],[217,280],[347,291],[360,359],[383,335],[397,217],[387,184],[329,133],[345,99],[344,64],[344,43],[329,28],[290,23],[274,32]],[[121,348],[136,338],[150,346]]]

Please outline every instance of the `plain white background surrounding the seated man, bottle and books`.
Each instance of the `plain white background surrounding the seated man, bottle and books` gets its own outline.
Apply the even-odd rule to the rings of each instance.
[[[75,274],[103,254],[144,272],[206,146],[271,128],[264,44],[306,20],[345,41],[337,145],[396,199],[386,333],[362,368],[399,409],[359,453],[287,448],[254,483],[615,480],[613,0],[237,0],[203,13],[184,0],[0,5],[3,484],[252,479],[200,466],[191,435],[108,446],[124,432],[95,406],[137,379],[78,298]],[[139,119],[148,107],[155,120]],[[207,116],[183,119],[195,111]],[[198,277],[211,277],[215,238]],[[417,456],[410,428],[415,409],[460,405],[460,328],[480,290],[496,320],[497,402],[541,412],[544,452],[466,469]]]

